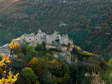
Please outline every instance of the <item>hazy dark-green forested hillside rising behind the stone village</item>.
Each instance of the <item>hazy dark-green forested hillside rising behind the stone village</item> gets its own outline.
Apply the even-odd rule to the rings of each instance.
[[[0,44],[37,29],[57,30],[74,33],[72,38],[86,50],[111,53],[111,17],[110,0],[2,0]],[[83,39],[83,35],[88,36]]]

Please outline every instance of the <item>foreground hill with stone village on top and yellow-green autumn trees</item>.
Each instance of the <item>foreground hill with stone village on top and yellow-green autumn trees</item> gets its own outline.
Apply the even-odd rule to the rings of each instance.
[[[24,34],[1,49],[9,51],[0,52],[1,84],[111,84],[112,60],[81,49],[66,34]]]

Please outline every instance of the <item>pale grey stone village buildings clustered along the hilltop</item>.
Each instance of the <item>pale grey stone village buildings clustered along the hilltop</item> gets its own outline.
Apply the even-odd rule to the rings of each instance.
[[[65,59],[70,62],[71,60],[71,54],[70,52],[70,45],[73,44],[73,42],[68,38],[68,35],[60,35],[58,32],[54,32],[53,34],[47,34],[45,32],[42,32],[41,30],[38,31],[37,34],[31,33],[31,34],[24,34],[20,36],[19,38],[13,39],[12,42],[19,42],[21,45],[20,47],[24,46],[24,44],[27,42],[32,46],[36,46],[37,44],[42,44],[43,42],[46,44],[47,49],[54,49],[57,51],[61,51],[60,55],[55,54],[55,56],[59,57],[65,57]],[[8,56],[10,55],[10,48],[7,45],[4,45],[2,49],[7,48],[4,52],[8,52]],[[2,51],[3,52],[3,51]]]

